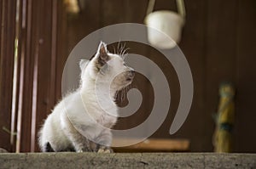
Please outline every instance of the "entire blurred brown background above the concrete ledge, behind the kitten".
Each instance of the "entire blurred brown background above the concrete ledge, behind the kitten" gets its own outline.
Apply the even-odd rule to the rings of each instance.
[[[170,151],[213,151],[214,115],[221,111],[219,85],[231,82],[236,90],[230,105],[235,120],[227,129],[231,152],[255,153],[256,1],[185,0],[184,5],[186,21],[178,46],[192,71],[194,99],[175,134],[169,134],[180,98],[175,70],[156,49],[125,42],[128,53],[154,60],[171,84],[171,109],[151,143],[155,149],[165,143]],[[38,151],[38,129],[61,99],[62,71],[74,46],[107,25],[143,24],[147,8],[148,0],[0,0],[0,147]],[[177,11],[176,1],[156,0],[154,11],[163,9]],[[109,50],[116,46],[110,44]],[[143,94],[143,104],[136,114],[120,118],[117,129],[136,127],[152,109],[154,91],[148,79],[137,74],[132,87]],[[124,104],[127,100],[119,103]]]

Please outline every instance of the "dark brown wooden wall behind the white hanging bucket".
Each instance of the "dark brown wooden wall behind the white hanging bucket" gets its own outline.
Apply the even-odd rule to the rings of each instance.
[[[123,22],[143,23],[148,0],[94,0],[85,1],[84,11],[67,20],[67,53],[92,31],[106,25]],[[256,2],[253,0],[194,0],[185,1],[187,20],[179,47],[189,61],[195,82],[195,95],[188,119],[174,135],[168,134],[179,99],[177,76],[172,65],[164,65],[153,48],[127,42],[130,52],[143,54],[167,72],[172,83],[172,107],[165,123],[154,133],[157,138],[189,138],[192,151],[212,151],[212,114],[218,107],[218,86],[230,81],[236,85],[236,125],[234,131],[236,152],[256,152]],[[175,1],[156,0],[155,10],[176,10]],[[63,35],[66,36],[66,35]],[[150,91],[148,82],[145,93]],[[135,84],[136,86],[136,84]],[[137,85],[138,86],[138,85]],[[141,85],[142,86],[142,85]],[[141,87],[140,86],[140,87]],[[150,94],[149,94],[150,98]],[[144,101],[144,100],[143,100]],[[150,103],[152,100],[146,99]],[[122,123],[125,127],[139,124],[147,117],[148,106],[142,105],[144,115]],[[146,113],[145,113],[146,112]],[[138,112],[139,113],[139,112]],[[118,127],[120,127],[118,125]]]

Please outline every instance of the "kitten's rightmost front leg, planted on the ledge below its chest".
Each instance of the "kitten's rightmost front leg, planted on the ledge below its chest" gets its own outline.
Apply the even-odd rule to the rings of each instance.
[[[112,143],[112,133],[110,129],[105,129],[101,132],[98,138],[96,138],[96,152],[98,153],[113,153],[110,148]]]

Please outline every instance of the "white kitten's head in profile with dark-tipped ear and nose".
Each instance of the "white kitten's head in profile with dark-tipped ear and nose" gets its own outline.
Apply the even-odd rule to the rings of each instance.
[[[122,54],[111,54],[107,45],[100,42],[95,56],[88,60],[80,61],[82,82],[88,78],[102,84],[111,81],[111,89],[118,91],[131,84],[135,71],[125,65]]]

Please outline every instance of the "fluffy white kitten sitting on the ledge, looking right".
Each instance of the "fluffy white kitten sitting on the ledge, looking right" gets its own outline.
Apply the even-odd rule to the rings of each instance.
[[[110,54],[101,42],[90,61],[80,61],[79,89],[55,106],[38,134],[42,151],[111,152],[110,128],[118,115],[115,94],[135,75],[122,56]]]

